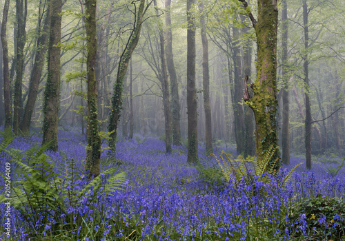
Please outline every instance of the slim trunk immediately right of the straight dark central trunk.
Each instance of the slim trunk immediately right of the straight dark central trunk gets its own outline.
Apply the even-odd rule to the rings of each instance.
[[[201,25],[201,42],[202,42],[202,87],[204,94],[204,110],[205,110],[205,142],[206,142],[206,155],[213,153],[212,146],[212,116],[210,105],[210,74],[208,72],[208,39],[206,35],[205,16],[204,16],[204,3],[203,0],[199,1],[199,8],[201,12],[200,25]]]

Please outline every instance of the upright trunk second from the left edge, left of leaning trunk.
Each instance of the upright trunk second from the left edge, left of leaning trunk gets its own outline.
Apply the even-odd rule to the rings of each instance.
[[[19,134],[19,125],[21,119],[21,83],[23,81],[24,65],[24,46],[26,43],[26,10],[28,2],[26,0],[16,1],[17,17],[17,62],[16,62],[16,82],[14,85],[14,102],[13,102],[13,132]]]

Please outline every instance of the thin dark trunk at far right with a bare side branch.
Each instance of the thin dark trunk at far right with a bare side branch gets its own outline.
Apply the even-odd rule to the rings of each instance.
[[[311,102],[309,100],[309,59],[308,59],[308,47],[309,47],[309,30],[308,30],[308,5],[306,0],[303,0],[303,23],[304,23],[304,92],[306,96],[306,121],[305,126],[305,141],[306,141],[306,168],[311,169]]]

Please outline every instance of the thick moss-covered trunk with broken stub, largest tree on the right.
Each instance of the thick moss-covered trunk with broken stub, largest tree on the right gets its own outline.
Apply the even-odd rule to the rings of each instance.
[[[277,138],[277,25],[278,9],[276,0],[257,1],[257,21],[243,3],[248,17],[253,23],[257,38],[257,79],[250,87],[253,96],[248,92],[248,76],[245,78],[244,101],[254,112],[256,123],[257,160],[262,162],[270,148],[275,149],[270,164],[275,163],[275,169],[280,166]]]

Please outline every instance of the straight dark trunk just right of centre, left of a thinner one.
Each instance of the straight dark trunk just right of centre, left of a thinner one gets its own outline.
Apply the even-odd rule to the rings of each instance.
[[[197,139],[197,89],[195,87],[195,17],[192,6],[195,0],[187,0],[187,111],[188,111],[188,163],[198,162]]]

